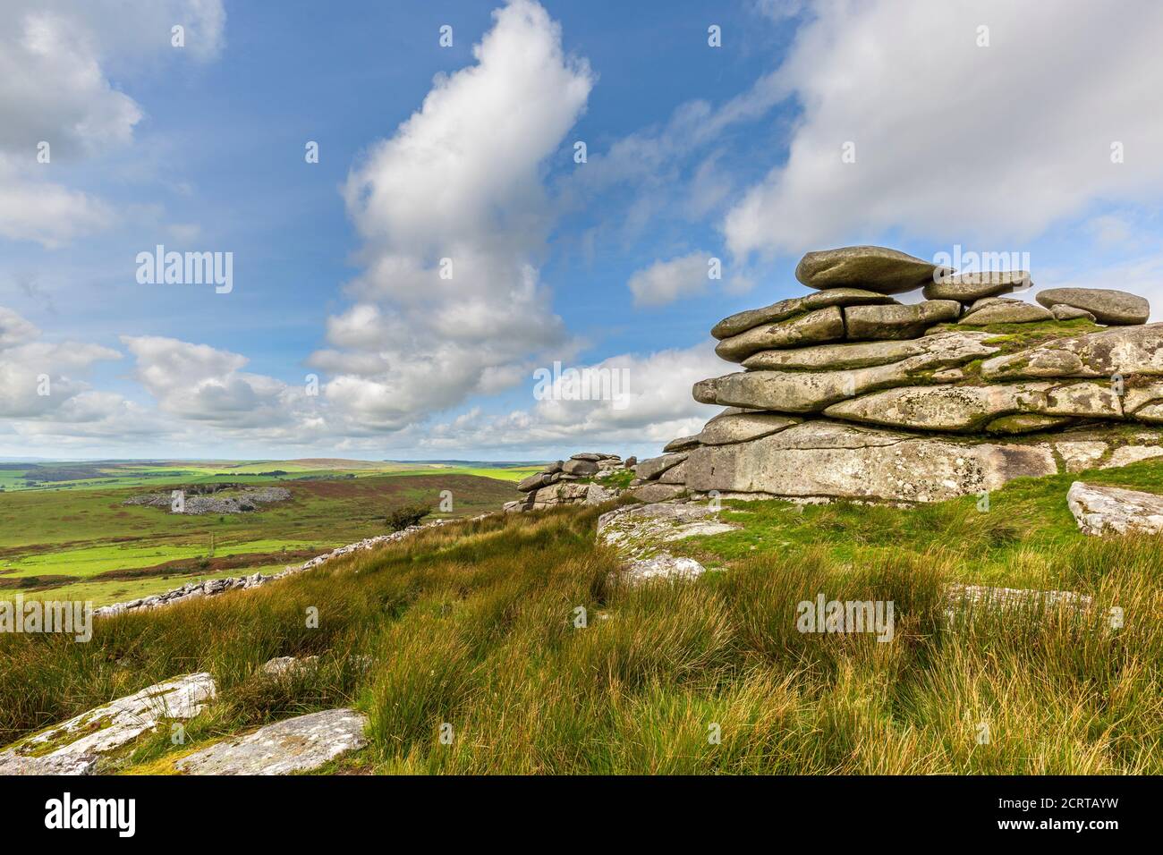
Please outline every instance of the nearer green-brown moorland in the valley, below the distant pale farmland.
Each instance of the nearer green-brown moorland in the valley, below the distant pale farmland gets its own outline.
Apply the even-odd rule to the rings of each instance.
[[[166,492],[187,483],[158,480],[145,492]],[[426,504],[437,518],[465,516],[494,511],[518,496],[512,479],[451,469],[279,484],[291,491],[290,501],[224,515],[181,515],[123,505],[143,492],[138,487],[2,493],[0,598],[20,592],[92,599],[95,605],[136,599],[194,579],[281,570],[309,557],[304,553],[317,555],[386,534],[385,515],[402,505]],[[444,491],[452,498],[449,513],[438,511]],[[212,543],[219,563],[237,555],[252,556],[252,561],[244,567],[198,567],[199,560],[209,560]],[[162,567],[172,562],[180,563]],[[142,573],[148,569],[152,569],[149,577]],[[124,577],[129,571],[136,571],[135,578],[101,578],[114,572]]]

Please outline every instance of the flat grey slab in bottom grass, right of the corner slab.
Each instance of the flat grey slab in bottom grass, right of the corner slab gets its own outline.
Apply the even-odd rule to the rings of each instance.
[[[312,771],[368,744],[368,719],[355,710],[324,710],[261,727],[183,757],[187,775],[287,775]]]

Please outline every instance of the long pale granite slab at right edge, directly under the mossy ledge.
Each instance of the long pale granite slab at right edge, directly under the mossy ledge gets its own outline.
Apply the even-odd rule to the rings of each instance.
[[[1116,373],[1163,375],[1163,323],[1057,339],[982,363],[987,380]]]

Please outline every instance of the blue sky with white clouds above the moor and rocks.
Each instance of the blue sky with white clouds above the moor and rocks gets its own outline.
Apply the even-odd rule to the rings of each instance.
[[[1163,307],[1155,0],[0,20],[0,456],[649,456],[812,249]]]

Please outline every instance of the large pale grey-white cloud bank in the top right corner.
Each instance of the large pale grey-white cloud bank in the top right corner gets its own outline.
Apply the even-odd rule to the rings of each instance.
[[[771,81],[802,107],[787,161],[728,213],[728,245],[794,254],[899,229],[1008,247],[1096,200],[1151,199],[1161,40],[1151,0],[818,2]]]

